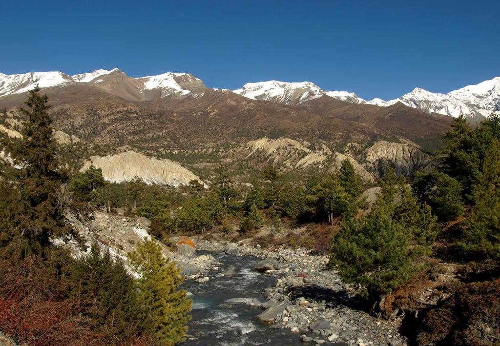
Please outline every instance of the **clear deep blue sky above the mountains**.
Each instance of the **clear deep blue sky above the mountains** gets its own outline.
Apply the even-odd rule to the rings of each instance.
[[[179,71],[390,99],[500,76],[498,13],[498,0],[0,1],[0,72]]]

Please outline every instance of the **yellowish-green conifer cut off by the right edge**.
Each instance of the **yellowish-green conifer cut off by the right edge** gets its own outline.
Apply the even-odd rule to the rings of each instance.
[[[464,239],[460,243],[470,251],[481,251],[500,258],[500,142],[493,139],[487,149],[482,171],[473,189],[474,206],[470,212]]]

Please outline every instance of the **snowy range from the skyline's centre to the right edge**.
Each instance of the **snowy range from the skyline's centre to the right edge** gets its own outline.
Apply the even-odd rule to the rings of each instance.
[[[399,98],[385,101],[381,98],[365,100],[348,91],[326,91],[316,84],[304,82],[282,82],[277,80],[246,83],[242,88],[233,90],[242,96],[297,105],[318,98],[323,94],[352,102],[389,106],[401,102],[409,107],[428,113],[447,114],[457,117],[463,114],[470,119],[480,120],[492,111],[500,111],[500,77],[485,80],[479,84],[468,85],[446,94],[435,93],[416,87]]]

